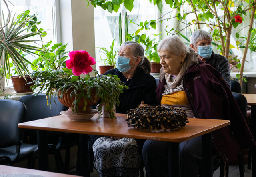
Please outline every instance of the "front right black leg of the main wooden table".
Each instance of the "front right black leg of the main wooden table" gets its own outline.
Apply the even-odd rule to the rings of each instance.
[[[180,177],[180,143],[168,144],[168,176]]]

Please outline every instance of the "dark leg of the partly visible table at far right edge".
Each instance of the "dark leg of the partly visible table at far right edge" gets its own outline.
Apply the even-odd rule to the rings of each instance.
[[[251,131],[254,139],[256,139],[256,106],[251,106]],[[256,177],[256,147],[252,147],[252,177]]]

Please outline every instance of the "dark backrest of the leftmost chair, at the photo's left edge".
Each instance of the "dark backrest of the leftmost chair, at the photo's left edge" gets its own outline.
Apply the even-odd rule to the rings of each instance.
[[[0,99],[0,148],[20,144],[22,129],[18,123],[24,121],[26,106],[12,99]]]

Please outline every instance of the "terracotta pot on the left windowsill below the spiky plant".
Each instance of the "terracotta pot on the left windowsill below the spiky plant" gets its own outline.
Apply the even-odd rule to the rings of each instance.
[[[26,80],[22,76],[11,76],[13,88],[16,93],[33,92],[30,86],[33,86],[34,84],[27,84],[31,82],[32,79],[30,78],[30,76],[25,77]],[[36,80],[36,78],[33,78],[33,80]]]

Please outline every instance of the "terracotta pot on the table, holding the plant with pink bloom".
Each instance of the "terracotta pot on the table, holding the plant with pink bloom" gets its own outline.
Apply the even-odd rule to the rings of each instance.
[[[73,101],[75,100],[75,95],[73,95],[70,98],[70,93],[72,91],[73,91],[72,89],[69,89],[67,93],[65,93],[65,92],[63,93],[63,97],[61,99],[58,97],[60,103],[62,103],[64,106],[69,107],[68,108],[68,112],[73,112],[71,106],[72,106]],[[61,94],[61,91],[58,92],[58,95],[60,95],[60,94]],[[80,103],[78,104],[78,111],[79,111],[78,114],[94,112],[91,109],[91,106],[94,105],[95,103],[97,103],[99,101],[99,99],[100,99],[100,98],[94,99],[95,94],[96,94],[95,91],[92,91],[92,95],[91,95],[92,99],[91,100],[87,100],[87,107],[86,107],[85,111],[83,111],[83,108],[84,108],[84,98],[80,99]],[[72,107],[74,107],[74,106],[72,106]]]

